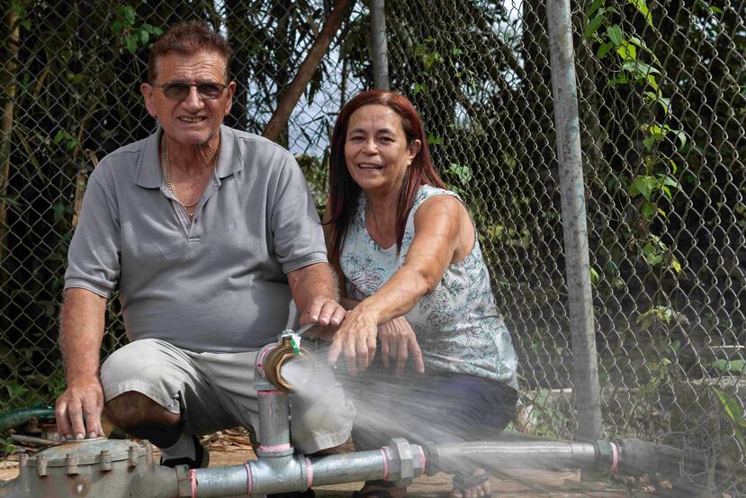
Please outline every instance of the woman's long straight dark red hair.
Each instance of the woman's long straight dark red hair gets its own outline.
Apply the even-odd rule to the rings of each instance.
[[[332,225],[331,254],[332,261],[338,261],[342,253],[347,230],[352,222],[360,202],[361,188],[350,177],[347,171],[345,159],[345,141],[350,116],[364,105],[385,105],[401,119],[401,128],[407,136],[408,143],[419,140],[422,146],[412,164],[404,174],[404,181],[399,192],[399,200],[396,207],[396,249],[401,249],[401,240],[404,238],[404,229],[407,225],[409,210],[415,200],[415,195],[420,186],[431,185],[445,188],[445,183],[438,176],[430,157],[430,149],[427,146],[427,135],[419,114],[414,105],[404,95],[396,92],[383,90],[369,90],[362,92],[347,102],[339,111],[334,131],[331,135],[331,152],[329,156],[329,206],[328,212],[331,219],[328,223]]]

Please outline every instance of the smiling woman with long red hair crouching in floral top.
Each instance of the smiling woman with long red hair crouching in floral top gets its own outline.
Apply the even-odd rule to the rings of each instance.
[[[343,107],[332,134],[329,182],[328,252],[349,309],[329,360],[344,354],[359,387],[352,394],[364,394],[359,413],[375,408],[370,400],[382,384],[390,388],[383,423],[375,415],[355,420],[355,446],[373,448],[393,436],[419,442],[494,436],[515,411],[516,355],[472,219],[438,177],[407,98],[369,91]],[[377,343],[382,367],[356,376],[371,365]],[[405,377],[409,359],[418,375]],[[371,381],[377,385],[364,384]],[[406,492],[384,487],[367,483],[359,494]],[[452,496],[485,493],[483,471],[454,477]]]

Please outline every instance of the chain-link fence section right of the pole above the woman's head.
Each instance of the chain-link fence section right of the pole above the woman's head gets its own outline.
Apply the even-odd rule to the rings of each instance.
[[[607,436],[743,493],[743,3],[573,3],[598,375]],[[391,86],[472,207],[520,356],[528,429],[570,438],[572,358],[546,8],[389,2]]]

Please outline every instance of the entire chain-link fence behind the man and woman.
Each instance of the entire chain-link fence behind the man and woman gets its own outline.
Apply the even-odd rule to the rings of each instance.
[[[606,437],[687,448],[692,489],[744,493],[746,15],[743,3],[573,3],[589,278]],[[229,125],[260,132],[331,8],[289,0],[17,0],[5,17],[0,405],[63,387],[57,315],[76,203],[95,158],[152,132],[137,92],[159,28],[226,34]],[[573,358],[546,9],[386,4],[391,88],[415,102],[436,166],[469,204],[520,358],[524,430],[571,439]],[[325,202],[328,134],[371,87],[356,4],[280,141]],[[112,301],[104,354],[123,339]],[[697,487],[699,486],[699,487]]]

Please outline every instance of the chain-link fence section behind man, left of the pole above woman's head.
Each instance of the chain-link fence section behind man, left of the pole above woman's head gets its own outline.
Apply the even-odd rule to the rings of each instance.
[[[161,30],[197,19],[229,39],[230,72],[240,83],[226,123],[261,134],[331,7],[290,0],[18,0],[8,7],[0,69],[0,411],[53,403],[64,389],[57,339],[67,245],[97,160],[156,129],[139,84]],[[365,47],[366,12],[355,7],[279,138],[298,158],[319,206],[326,202],[323,161],[336,113],[364,88],[346,68],[340,41]],[[113,299],[102,354],[123,340]]]

